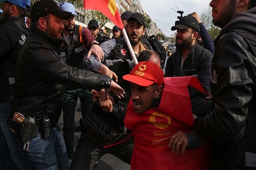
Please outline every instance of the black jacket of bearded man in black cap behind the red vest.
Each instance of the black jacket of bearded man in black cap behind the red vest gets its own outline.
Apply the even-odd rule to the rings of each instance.
[[[195,43],[182,64],[182,54],[178,50],[167,59],[165,77],[195,76],[210,91],[212,57],[210,51]]]

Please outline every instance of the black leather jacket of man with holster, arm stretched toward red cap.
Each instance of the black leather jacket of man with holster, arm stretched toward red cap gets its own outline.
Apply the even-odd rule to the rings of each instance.
[[[79,70],[61,62],[62,40],[53,38],[31,26],[29,38],[17,60],[15,96],[9,122],[15,112],[32,115],[40,126],[43,113],[51,125],[61,116],[64,86],[76,88],[107,88],[111,78]]]

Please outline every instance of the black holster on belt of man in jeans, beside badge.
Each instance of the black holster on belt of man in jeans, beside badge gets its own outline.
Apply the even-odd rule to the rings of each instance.
[[[38,134],[38,125],[29,122],[29,116],[25,118],[23,123],[17,124],[16,127],[16,134],[22,142],[30,142]]]

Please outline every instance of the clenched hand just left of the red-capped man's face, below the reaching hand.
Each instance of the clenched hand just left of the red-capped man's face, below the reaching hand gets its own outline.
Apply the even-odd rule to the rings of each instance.
[[[113,111],[113,100],[111,96],[106,96],[105,89],[99,92],[99,106],[102,111],[111,113]]]

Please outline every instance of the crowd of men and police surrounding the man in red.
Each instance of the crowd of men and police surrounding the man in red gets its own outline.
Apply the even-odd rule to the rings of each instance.
[[[256,0],[211,0],[214,42],[181,17],[165,74],[143,14],[120,16],[135,65],[119,27],[76,25],[72,3],[0,1],[0,170],[92,170],[106,153],[131,170],[256,169]]]

